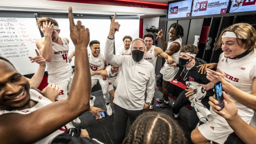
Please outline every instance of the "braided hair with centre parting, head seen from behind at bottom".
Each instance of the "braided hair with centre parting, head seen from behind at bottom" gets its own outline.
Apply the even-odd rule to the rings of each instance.
[[[144,113],[136,118],[123,144],[185,144],[182,129],[171,117],[160,112]]]

